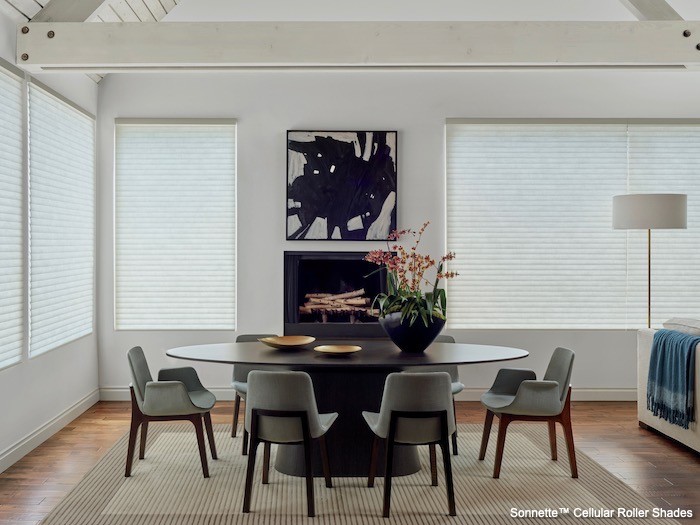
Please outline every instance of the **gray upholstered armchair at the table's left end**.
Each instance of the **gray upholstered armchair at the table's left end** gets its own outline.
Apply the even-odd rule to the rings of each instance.
[[[136,448],[136,434],[141,427],[141,444],[139,459],[145,457],[146,436],[150,421],[191,421],[197,433],[199,457],[202,462],[202,472],[209,477],[207,452],[204,444],[206,427],[211,456],[217,459],[214,432],[209,411],[214,407],[216,398],[202,386],[194,368],[164,368],[158,372],[158,381],[153,381],[148,369],[146,357],[140,346],[135,346],[127,353],[131,370],[131,428],[129,431],[129,447],[126,456],[126,473],[131,476],[131,467]]]

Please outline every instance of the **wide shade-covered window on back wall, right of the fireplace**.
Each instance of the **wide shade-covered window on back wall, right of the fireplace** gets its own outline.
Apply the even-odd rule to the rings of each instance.
[[[452,328],[627,328],[646,321],[646,232],[612,229],[612,197],[689,194],[700,126],[450,123]],[[653,232],[653,321],[700,310],[700,235]]]

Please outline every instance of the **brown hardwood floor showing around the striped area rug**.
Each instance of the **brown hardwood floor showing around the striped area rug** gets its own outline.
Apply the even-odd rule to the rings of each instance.
[[[212,419],[230,424],[232,413],[233,402],[217,403]],[[460,423],[483,424],[484,414],[479,403],[457,403]],[[0,523],[38,523],[129,430],[129,418],[129,403],[97,403],[0,474]],[[700,455],[640,429],[635,403],[574,402],[572,420],[579,450],[659,507],[692,509],[684,523],[700,522]]]

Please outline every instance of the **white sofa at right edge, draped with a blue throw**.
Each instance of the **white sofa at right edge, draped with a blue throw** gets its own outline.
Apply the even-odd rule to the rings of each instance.
[[[678,328],[674,328],[678,329]],[[680,330],[684,331],[684,330]],[[698,428],[698,381],[700,381],[700,345],[695,350],[695,422],[689,429],[671,425],[665,419],[655,416],[647,410],[647,378],[649,376],[649,358],[655,330],[643,329],[637,332],[637,419],[643,428],[651,427],[662,434],[683,443],[700,452],[700,429]]]

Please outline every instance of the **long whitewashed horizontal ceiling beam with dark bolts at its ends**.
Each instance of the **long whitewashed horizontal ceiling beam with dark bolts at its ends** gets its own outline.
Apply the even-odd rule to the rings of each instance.
[[[54,0],[55,1],[55,0]],[[700,64],[700,21],[34,23],[29,71]],[[52,32],[53,37],[47,34]]]

